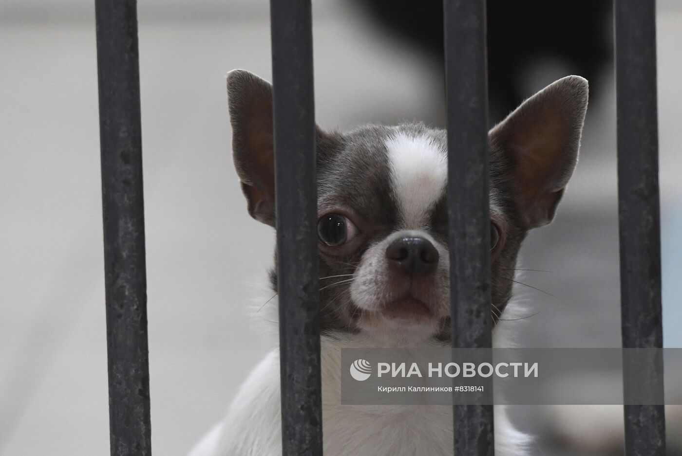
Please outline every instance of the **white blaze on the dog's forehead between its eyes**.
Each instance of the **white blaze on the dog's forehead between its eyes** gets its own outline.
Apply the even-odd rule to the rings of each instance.
[[[428,136],[398,133],[386,140],[391,186],[405,228],[421,228],[445,192],[447,155]]]

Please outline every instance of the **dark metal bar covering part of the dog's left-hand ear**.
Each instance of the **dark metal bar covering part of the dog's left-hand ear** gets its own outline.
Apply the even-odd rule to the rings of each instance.
[[[322,455],[310,0],[271,0],[282,452]]]

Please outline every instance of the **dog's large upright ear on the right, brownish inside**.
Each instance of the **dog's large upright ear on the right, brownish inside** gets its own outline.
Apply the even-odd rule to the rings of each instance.
[[[552,221],[578,162],[587,80],[566,76],[545,87],[490,131],[490,144],[511,164],[526,229]]]

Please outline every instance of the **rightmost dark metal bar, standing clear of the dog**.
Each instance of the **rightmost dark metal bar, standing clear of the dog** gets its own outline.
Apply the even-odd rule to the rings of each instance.
[[[623,347],[663,346],[654,0],[617,0],[616,87]],[[642,373],[644,371],[644,373]],[[662,359],[623,366],[625,395],[663,392]],[[634,380],[638,379],[638,380]],[[663,406],[625,406],[625,454],[665,454]]]

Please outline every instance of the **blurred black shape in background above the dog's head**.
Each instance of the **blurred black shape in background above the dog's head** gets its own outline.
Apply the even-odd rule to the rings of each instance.
[[[443,61],[443,0],[353,1],[391,33]],[[563,61],[587,78],[593,97],[597,75],[612,62],[611,12],[611,0],[488,0],[491,118],[499,120],[529,95],[523,79],[542,59]]]

